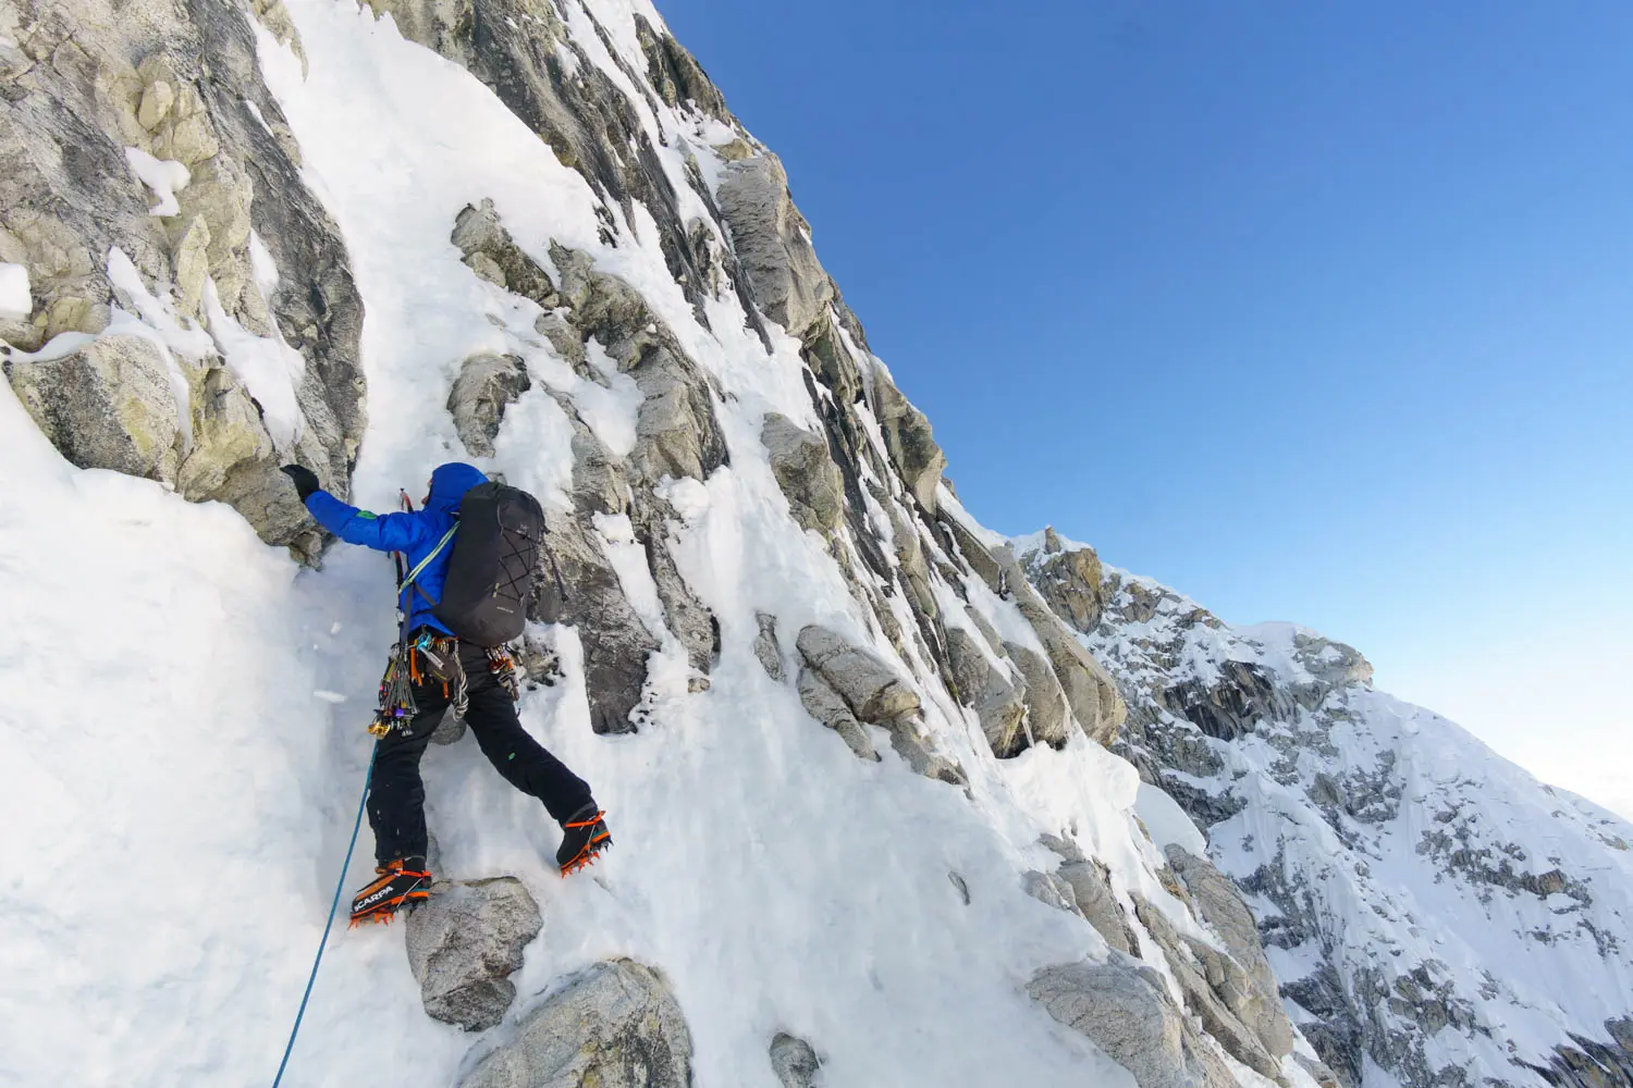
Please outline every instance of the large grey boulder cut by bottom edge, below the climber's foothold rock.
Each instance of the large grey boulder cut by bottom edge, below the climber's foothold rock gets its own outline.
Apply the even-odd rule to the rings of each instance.
[[[581,972],[459,1088],[691,1088],[692,1039],[668,984],[630,959]]]

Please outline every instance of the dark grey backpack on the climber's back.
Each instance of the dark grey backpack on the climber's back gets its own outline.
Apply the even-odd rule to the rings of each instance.
[[[527,623],[544,543],[544,509],[526,491],[482,483],[459,502],[443,600],[431,615],[477,646],[503,646]]]

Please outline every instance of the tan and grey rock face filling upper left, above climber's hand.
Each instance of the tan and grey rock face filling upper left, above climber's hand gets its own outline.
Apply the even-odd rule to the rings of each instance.
[[[10,359],[13,388],[73,463],[229,502],[265,540],[314,556],[318,537],[276,470],[300,460],[346,493],[363,307],[247,15],[214,0],[140,20],[103,0],[24,3],[7,33],[0,261],[28,269],[33,308],[0,329],[0,354],[114,333],[59,343],[57,365]],[[121,312],[168,313],[178,334],[132,344]],[[243,382],[235,352],[250,338],[284,352],[287,388]]]

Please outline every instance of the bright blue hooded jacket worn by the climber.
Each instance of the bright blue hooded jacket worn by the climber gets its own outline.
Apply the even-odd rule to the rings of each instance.
[[[317,524],[335,533],[346,543],[361,543],[376,551],[402,551],[408,558],[408,569],[425,563],[426,556],[447,537],[459,522],[459,501],[465,493],[488,478],[474,465],[449,462],[431,473],[431,493],[425,499],[425,509],[413,514],[371,514],[354,506],[346,506],[328,491],[314,491],[307,496],[307,511]],[[452,635],[436,617],[431,615],[431,600],[443,599],[443,581],[447,577],[447,556],[452,555],[452,540],[429,561],[415,586],[425,594],[416,594],[412,586],[403,586],[398,605],[408,613],[408,630],[431,626],[446,635]]]

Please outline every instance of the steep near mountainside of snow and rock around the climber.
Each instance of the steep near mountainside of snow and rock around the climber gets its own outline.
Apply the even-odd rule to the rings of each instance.
[[[1306,944],[1140,770],[1225,791],[1138,688],[1104,747],[1127,659],[959,504],[643,0],[0,0],[0,1081],[271,1078],[392,639],[278,465],[390,509],[464,458],[544,502],[519,710],[617,847],[557,879],[447,734],[443,882],[331,943],[284,1083],[1334,1083]],[[1491,865],[1617,905],[1532,838]],[[1553,1010],[1522,1055],[1615,1013],[1493,975]]]

